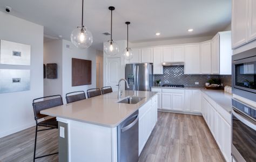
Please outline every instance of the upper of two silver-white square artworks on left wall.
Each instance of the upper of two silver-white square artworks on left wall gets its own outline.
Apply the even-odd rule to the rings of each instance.
[[[30,65],[31,46],[0,40],[0,64]]]

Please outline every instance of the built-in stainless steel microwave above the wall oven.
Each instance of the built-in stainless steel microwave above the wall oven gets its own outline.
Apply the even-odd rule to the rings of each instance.
[[[232,91],[256,102],[256,48],[232,56]]]

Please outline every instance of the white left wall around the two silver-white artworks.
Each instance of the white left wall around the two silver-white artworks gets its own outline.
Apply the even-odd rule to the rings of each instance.
[[[0,65],[30,69],[30,91],[0,94],[0,138],[35,125],[32,100],[43,96],[43,26],[0,12],[0,39],[31,45],[31,65]],[[1,76],[0,76],[1,77]]]

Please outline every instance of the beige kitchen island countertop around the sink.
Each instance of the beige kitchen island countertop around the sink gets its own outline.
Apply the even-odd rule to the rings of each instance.
[[[116,127],[129,117],[139,107],[149,102],[157,92],[124,91],[122,99],[128,96],[145,97],[137,104],[117,103],[117,92],[107,93],[97,97],[79,100],[61,106],[42,110],[40,113],[48,116],[76,120],[106,127]]]

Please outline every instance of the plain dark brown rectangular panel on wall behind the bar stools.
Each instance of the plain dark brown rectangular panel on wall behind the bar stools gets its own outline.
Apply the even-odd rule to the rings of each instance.
[[[92,61],[72,58],[72,86],[92,84]]]

